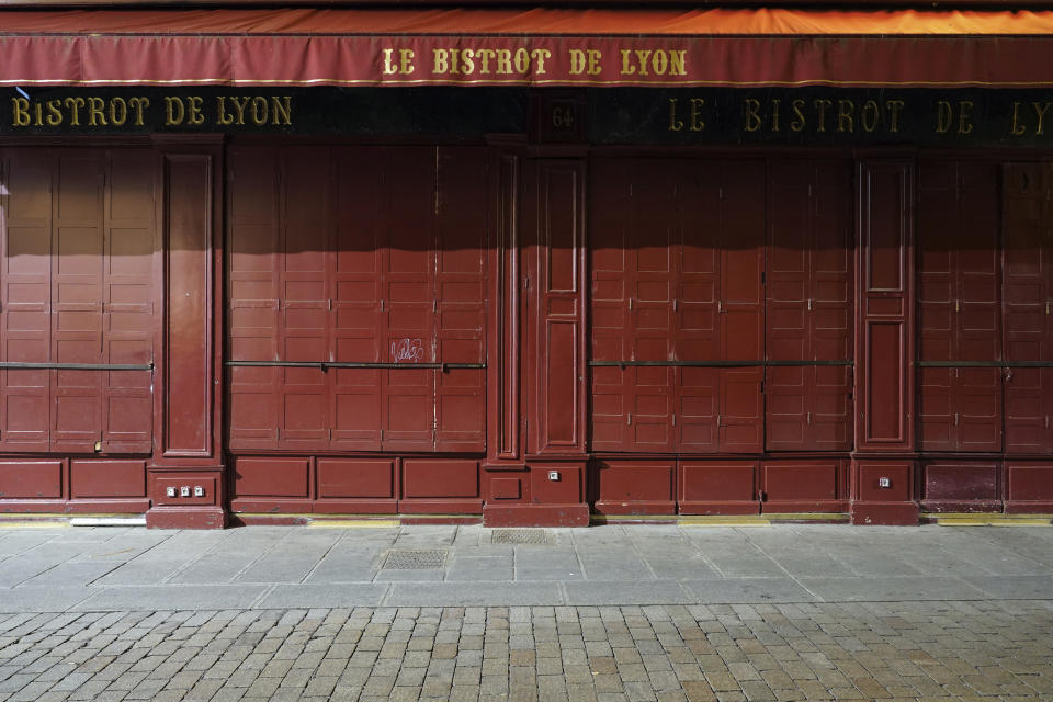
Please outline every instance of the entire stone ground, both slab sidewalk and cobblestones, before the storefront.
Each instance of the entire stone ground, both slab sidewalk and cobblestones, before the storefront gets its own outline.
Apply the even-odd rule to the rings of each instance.
[[[1053,530],[0,532],[0,702],[241,699],[1050,702]]]

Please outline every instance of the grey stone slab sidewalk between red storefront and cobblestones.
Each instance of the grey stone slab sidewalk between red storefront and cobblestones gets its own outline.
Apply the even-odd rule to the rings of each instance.
[[[518,544],[495,533],[0,531],[0,611],[1053,599],[1053,529],[614,524]],[[444,559],[385,567],[400,550]]]

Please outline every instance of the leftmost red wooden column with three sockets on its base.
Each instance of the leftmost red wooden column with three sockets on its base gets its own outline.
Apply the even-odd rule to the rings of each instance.
[[[165,314],[147,525],[222,528],[223,140],[157,137],[155,144],[162,159]]]

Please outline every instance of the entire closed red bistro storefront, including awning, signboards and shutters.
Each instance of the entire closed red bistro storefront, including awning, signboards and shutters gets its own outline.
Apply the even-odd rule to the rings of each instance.
[[[1053,512],[1053,13],[2,16],[0,516]]]

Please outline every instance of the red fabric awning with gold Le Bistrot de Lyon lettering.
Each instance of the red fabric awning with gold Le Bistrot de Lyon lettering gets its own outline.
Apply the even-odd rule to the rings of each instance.
[[[0,12],[0,84],[1053,87],[1053,12]]]

